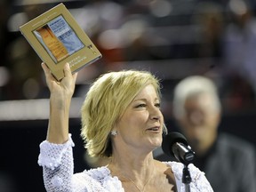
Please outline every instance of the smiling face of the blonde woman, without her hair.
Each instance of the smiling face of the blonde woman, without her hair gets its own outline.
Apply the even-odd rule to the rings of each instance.
[[[149,84],[132,100],[116,124],[116,145],[155,149],[162,143],[163,122],[156,90]]]

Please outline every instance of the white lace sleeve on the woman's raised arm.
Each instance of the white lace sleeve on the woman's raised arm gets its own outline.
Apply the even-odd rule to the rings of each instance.
[[[48,192],[72,191],[71,179],[74,172],[72,147],[74,146],[71,134],[64,144],[53,144],[47,140],[40,144],[38,164],[43,166],[44,187]]]

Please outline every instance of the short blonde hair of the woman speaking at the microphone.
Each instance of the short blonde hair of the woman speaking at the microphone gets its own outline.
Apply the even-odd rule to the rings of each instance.
[[[159,81],[148,71],[109,72],[92,84],[81,109],[81,136],[90,156],[112,155],[109,132],[135,96],[148,84],[153,84],[160,100]]]

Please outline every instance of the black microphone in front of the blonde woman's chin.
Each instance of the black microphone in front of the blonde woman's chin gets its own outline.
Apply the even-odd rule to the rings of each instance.
[[[162,149],[167,156],[174,156],[180,163],[188,165],[195,159],[195,152],[180,132],[171,132],[164,136]]]

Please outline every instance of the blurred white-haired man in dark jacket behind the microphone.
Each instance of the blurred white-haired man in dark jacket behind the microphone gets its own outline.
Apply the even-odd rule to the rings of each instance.
[[[194,164],[205,172],[214,191],[256,191],[255,148],[245,140],[218,132],[220,99],[210,79],[183,79],[174,89],[173,113],[180,131],[196,152]]]

